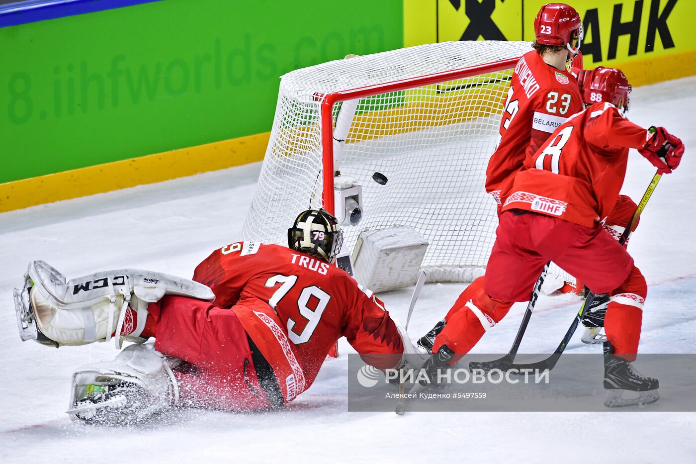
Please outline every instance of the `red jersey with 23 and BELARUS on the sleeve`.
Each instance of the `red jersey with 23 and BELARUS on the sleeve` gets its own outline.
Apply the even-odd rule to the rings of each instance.
[[[544,62],[535,50],[522,56],[512,75],[500,142],[486,171],[486,192],[500,201],[500,190],[569,116],[583,109],[576,78]]]

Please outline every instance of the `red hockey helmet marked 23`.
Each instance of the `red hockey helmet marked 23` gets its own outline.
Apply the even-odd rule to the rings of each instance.
[[[534,20],[534,35],[541,45],[566,45],[576,55],[583,42],[583,22],[572,6],[546,3]]]

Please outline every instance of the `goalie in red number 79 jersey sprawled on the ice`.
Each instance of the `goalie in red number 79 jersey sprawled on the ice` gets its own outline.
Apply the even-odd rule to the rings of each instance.
[[[312,385],[340,337],[368,364],[399,365],[402,335],[383,304],[331,265],[342,243],[336,219],[324,210],[304,211],[289,229],[288,243],[236,242],[217,249],[198,265],[195,282],[120,270],[111,272],[116,277],[107,272],[106,279],[71,285],[45,263],[33,262],[26,300],[15,296],[19,318],[28,322],[23,328],[20,321],[22,339],[63,346],[108,340],[114,332],[116,339],[155,337],[154,349],[132,345],[112,363],[76,371],[69,412],[92,421],[132,422],[174,404],[278,408]],[[49,281],[65,288],[56,291]],[[117,290],[107,293],[106,284]],[[71,288],[86,296],[65,304]],[[113,300],[115,308],[107,310]],[[31,320],[34,336],[25,337]]]

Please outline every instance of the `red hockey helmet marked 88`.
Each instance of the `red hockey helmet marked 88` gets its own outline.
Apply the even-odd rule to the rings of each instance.
[[[621,70],[597,66],[592,70],[581,70],[578,74],[578,86],[585,105],[598,102],[610,102],[622,114],[628,111],[631,84]]]

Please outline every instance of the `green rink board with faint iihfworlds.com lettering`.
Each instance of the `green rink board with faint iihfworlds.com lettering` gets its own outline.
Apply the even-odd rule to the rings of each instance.
[[[278,77],[403,47],[402,0],[166,0],[0,29],[0,183],[271,129]]]

